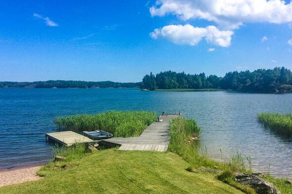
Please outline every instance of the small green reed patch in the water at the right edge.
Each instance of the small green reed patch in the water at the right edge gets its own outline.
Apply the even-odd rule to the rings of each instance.
[[[265,126],[283,134],[292,135],[292,114],[260,113],[257,117]]]

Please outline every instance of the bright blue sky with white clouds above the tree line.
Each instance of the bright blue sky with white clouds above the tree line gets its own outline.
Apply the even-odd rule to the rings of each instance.
[[[170,1],[1,1],[0,80],[124,82],[167,70],[224,76],[235,70],[292,69],[290,1],[279,11],[277,4],[271,10],[260,0],[256,15],[248,11],[250,0],[247,9],[232,7],[240,10],[225,15],[213,11],[216,0],[208,9],[200,0]],[[197,9],[208,17],[194,15]],[[278,12],[283,15],[270,17]]]

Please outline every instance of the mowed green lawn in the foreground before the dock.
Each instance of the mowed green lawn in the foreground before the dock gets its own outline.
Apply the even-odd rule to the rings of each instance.
[[[71,168],[63,169],[64,164]],[[243,194],[214,174],[192,173],[174,153],[96,151],[43,167],[45,178],[0,188],[1,194]]]

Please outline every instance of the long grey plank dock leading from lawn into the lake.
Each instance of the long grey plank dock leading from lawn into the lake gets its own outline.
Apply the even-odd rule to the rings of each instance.
[[[120,146],[119,150],[165,152],[170,141],[169,121],[179,115],[161,115],[160,121],[150,124],[139,137],[110,138],[105,144]]]

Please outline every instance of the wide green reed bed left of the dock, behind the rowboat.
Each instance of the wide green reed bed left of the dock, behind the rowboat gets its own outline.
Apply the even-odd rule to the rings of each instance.
[[[104,130],[115,137],[139,136],[144,129],[157,119],[155,112],[110,111],[96,115],[64,116],[54,119],[59,129],[94,131]]]

